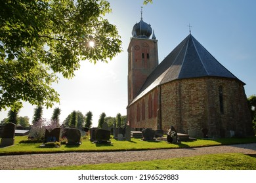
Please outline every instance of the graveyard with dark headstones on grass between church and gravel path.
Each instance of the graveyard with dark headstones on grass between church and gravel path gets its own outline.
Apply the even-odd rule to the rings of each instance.
[[[169,142],[168,138],[171,137],[168,137],[168,134],[164,135],[162,131],[152,131],[152,129],[134,131],[135,129],[129,129],[129,127],[125,130],[121,128],[110,129],[105,125],[102,125],[100,129],[92,128],[87,129],[87,131],[80,131],[72,127],[66,131],[60,128],[51,131],[45,129],[43,141],[38,142],[33,141],[30,137],[33,131],[30,131],[29,135],[26,133],[16,136],[14,125],[9,124],[7,127],[8,130],[12,128],[12,132],[7,133],[8,137],[5,137],[6,132],[2,133],[0,155],[156,150],[256,142],[256,137],[182,140],[182,135],[179,133],[174,133],[176,135],[175,141]],[[53,142],[58,142],[58,145],[45,146],[45,144],[53,144]]]

